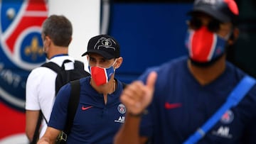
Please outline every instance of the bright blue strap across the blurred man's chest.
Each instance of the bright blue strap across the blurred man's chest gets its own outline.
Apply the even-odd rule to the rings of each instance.
[[[223,106],[216,111],[213,116],[211,116],[206,123],[201,126],[201,128],[198,128],[198,130],[193,133],[183,144],[193,144],[197,143],[198,140],[203,138],[204,135],[212,128],[217,121],[220,120],[221,116],[223,116],[223,113],[230,109],[232,106],[236,106],[239,101],[247,94],[247,92],[254,86],[256,83],[255,79],[253,79],[250,76],[245,76],[243,79],[238,83],[238,85],[233,89],[233,92],[230,93],[228,96],[227,101]]]

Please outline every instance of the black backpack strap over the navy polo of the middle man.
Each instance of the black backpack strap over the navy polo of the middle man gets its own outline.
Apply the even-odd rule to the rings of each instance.
[[[67,121],[65,124],[65,133],[68,135],[73,126],[73,120],[75,118],[75,113],[78,109],[79,99],[80,99],[80,80],[74,80],[70,82],[71,92],[70,99],[68,101],[68,114]]]

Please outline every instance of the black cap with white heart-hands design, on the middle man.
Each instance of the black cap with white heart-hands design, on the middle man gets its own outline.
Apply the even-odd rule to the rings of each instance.
[[[90,38],[87,45],[87,52],[82,56],[88,55],[90,52],[97,53],[105,57],[107,60],[120,57],[120,46],[110,35],[97,35]]]

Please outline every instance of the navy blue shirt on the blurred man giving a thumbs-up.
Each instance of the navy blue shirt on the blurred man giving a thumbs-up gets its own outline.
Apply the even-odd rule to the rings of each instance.
[[[188,57],[166,62],[152,70],[158,73],[149,113],[143,116],[140,135],[155,144],[181,144],[225,103],[245,73],[226,62],[223,74],[202,86],[188,71]],[[226,111],[198,143],[256,143],[256,87]]]

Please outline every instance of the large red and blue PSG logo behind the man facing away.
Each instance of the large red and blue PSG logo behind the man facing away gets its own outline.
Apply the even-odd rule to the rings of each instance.
[[[26,79],[46,60],[41,25],[47,11],[43,0],[0,1],[0,143],[17,143],[14,135],[25,133]]]

